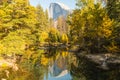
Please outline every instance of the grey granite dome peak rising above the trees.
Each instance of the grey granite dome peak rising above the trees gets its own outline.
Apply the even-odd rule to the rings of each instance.
[[[49,17],[54,21],[59,17],[63,16],[64,18],[70,13],[70,8],[62,3],[51,3],[49,6]]]

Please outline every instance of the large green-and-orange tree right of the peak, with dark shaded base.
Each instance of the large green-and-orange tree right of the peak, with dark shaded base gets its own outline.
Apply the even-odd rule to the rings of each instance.
[[[72,40],[92,53],[104,52],[111,44],[114,20],[109,18],[101,3],[95,4],[94,0],[82,3],[82,8],[76,9],[69,20]]]

